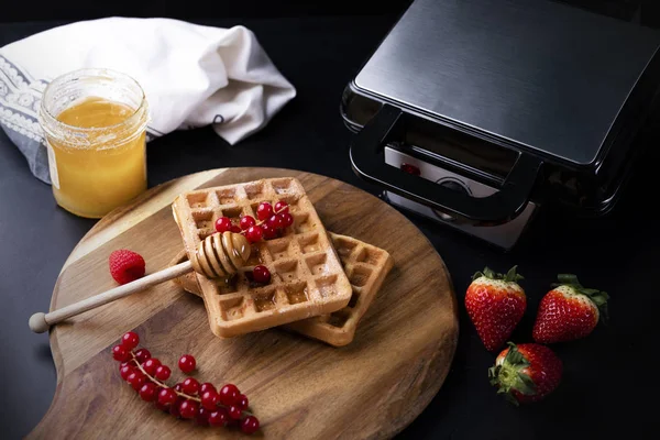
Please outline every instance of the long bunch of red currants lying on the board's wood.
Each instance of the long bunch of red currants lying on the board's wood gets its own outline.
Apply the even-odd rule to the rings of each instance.
[[[270,276],[270,274],[268,274]],[[248,410],[248,396],[241,394],[234,384],[224,384],[219,389],[213,384],[186,377],[175,386],[168,386],[172,370],[161,363],[146,349],[136,350],[140,343],[138,333],[129,331],[119,345],[112,348],[112,356],[121,362],[119,373],[138,392],[144,402],[182,419],[195,420],[198,425],[230,427],[238,425],[245,433],[258,430],[258,419]],[[184,354],[178,366],[190,373],[196,367],[195,358]]]

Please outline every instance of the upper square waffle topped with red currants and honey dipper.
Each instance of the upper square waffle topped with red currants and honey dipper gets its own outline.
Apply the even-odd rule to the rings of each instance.
[[[255,285],[240,274],[232,283],[195,273],[213,334],[230,338],[342,309],[351,299],[351,284],[328,233],[302,185],[295,178],[262,179],[189,191],[173,202],[187,255],[215,233],[219,217],[256,218],[262,201],[284,200],[294,224],[282,238],[252,245],[244,271],[263,264],[271,283]]]

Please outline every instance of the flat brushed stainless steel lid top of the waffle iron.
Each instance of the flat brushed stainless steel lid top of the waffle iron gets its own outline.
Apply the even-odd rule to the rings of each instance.
[[[418,0],[355,86],[591,164],[659,43],[651,30],[550,1]]]

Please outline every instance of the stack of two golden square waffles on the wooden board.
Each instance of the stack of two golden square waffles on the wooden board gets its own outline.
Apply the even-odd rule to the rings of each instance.
[[[218,337],[282,326],[330,345],[349,344],[393,260],[385,250],[328,232],[295,178],[206,188],[177,197],[173,213],[184,250],[172,264],[194,254],[216,232],[218,218],[256,218],[264,201],[286,201],[294,223],[282,237],[252,244],[242,273],[231,282],[190,273],[175,283],[204,298],[211,331]],[[246,274],[255,265],[268,268],[271,283],[257,285],[250,279]]]

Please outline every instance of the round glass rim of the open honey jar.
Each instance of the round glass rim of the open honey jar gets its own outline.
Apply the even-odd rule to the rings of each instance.
[[[72,125],[72,124],[62,122],[61,120],[57,119],[58,114],[53,114],[51,112],[51,110],[46,107],[45,102],[47,100],[45,98],[46,98],[47,94],[52,92],[57,86],[62,86],[63,84],[65,84],[67,80],[70,80],[74,78],[85,78],[85,77],[128,80],[132,86],[136,87],[136,90],[139,90],[140,106],[138,106],[138,108],[127,119],[124,119],[123,121],[118,122],[116,124],[112,124],[112,125],[78,127],[78,125]],[[108,131],[111,129],[120,128],[122,125],[131,124],[132,122],[134,122],[134,120],[138,117],[140,117],[142,113],[145,112],[146,107],[147,107],[147,102],[146,102],[146,95],[144,94],[144,89],[142,88],[140,82],[138,82],[138,80],[135,78],[133,78],[132,76],[124,74],[123,72],[113,70],[113,69],[106,68],[106,67],[102,67],[102,68],[85,67],[85,68],[72,70],[66,74],[59,75],[46,85],[46,87],[42,94],[42,100],[41,100],[41,105],[40,105],[40,110],[41,110],[40,116],[42,118],[44,118],[48,124],[54,124],[55,127],[57,127],[61,130],[70,130],[70,131],[75,131],[75,132],[79,132],[79,133],[95,133],[95,132]]]

